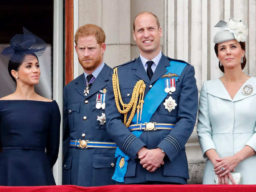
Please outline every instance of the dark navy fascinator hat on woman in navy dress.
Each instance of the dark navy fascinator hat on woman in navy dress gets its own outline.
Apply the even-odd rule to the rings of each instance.
[[[12,62],[22,63],[26,55],[41,56],[46,47],[44,40],[23,27],[23,34],[16,34],[12,37],[10,47],[5,48],[1,54],[10,56]],[[26,60],[30,58],[34,57],[26,57]]]

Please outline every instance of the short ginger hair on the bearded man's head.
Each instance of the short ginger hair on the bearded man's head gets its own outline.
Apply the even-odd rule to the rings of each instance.
[[[78,37],[93,35],[97,40],[97,44],[105,43],[106,35],[103,29],[97,25],[86,24],[78,27],[75,34],[75,44],[77,45]]]

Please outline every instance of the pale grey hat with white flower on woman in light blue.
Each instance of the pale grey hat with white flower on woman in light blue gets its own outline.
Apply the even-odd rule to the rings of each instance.
[[[236,21],[233,18],[230,18],[229,22],[220,20],[214,27],[221,27],[221,30],[214,36],[213,42],[215,44],[233,39],[236,39],[237,42],[244,42],[248,35],[248,28],[242,20]]]

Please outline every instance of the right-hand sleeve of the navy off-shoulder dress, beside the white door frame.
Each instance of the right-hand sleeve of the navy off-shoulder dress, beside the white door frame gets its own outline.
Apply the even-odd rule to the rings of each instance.
[[[53,101],[52,104],[52,119],[46,144],[46,155],[49,158],[51,167],[57,161],[60,145],[60,109],[56,101]]]

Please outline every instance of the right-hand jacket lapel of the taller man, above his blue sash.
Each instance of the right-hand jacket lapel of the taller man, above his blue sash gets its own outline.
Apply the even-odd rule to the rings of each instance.
[[[155,72],[150,80],[150,84],[153,84],[155,81],[157,81],[161,76],[166,74],[167,69],[166,67],[170,66],[170,61],[167,59],[166,56],[162,54],[161,59],[159,60],[159,63],[157,65],[157,68],[155,69]]]

